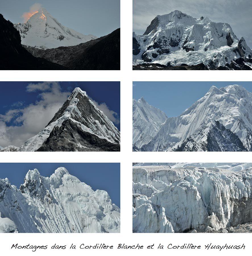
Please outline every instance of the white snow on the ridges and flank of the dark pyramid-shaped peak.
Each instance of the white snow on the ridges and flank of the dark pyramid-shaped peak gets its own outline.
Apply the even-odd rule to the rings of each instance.
[[[93,117],[88,119],[85,119],[85,117],[82,117],[77,107],[79,99],[77,99],[76,96],[78,94],[82,95],[82,97],[86,97],[89,100],[87,93],[85,91],[82,91],[79,87],[76,87],[73,90],[72,94],[67,99],[67,101],[69,101],[68,107],[56,121],[47,125],[37,135],[28,139],[22,146],[20,147],[7,146],[0,150],[1,151],[36,151],[39,147],[42,146],[44,141],[49,137],[53,128],[55,126],[60,127],[63,121],[66,119],[71,119],[71,121],[75,122],[83,131],[87,131],[91,134],[94,134],[101,139],[106,139],[111,143],[118,144],[117,140],[118,138],[120,139],[120,132],[114,126],[114,124],[107,118],[107,116],[105,116],[104,113],[93,104],[91,100],[89,100],[89,102],[92,104],[93,108],[95,109],[96,114],[101,118],[101,120],[104,120],[107,125],[103,125],[99,123],[99,121],[97,121]],[[89,127],[83,125],[81,123],[82,120],[85,120],[86,122],[88,122]]]

